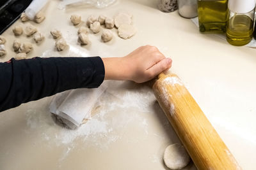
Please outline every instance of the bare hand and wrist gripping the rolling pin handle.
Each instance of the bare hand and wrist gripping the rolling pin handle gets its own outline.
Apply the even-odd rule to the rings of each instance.
[[[125,57],[102,59],[105,80],[132,80],[143,83],[172,66],[172,59],[164,57],[156,46],[141,46]]]

